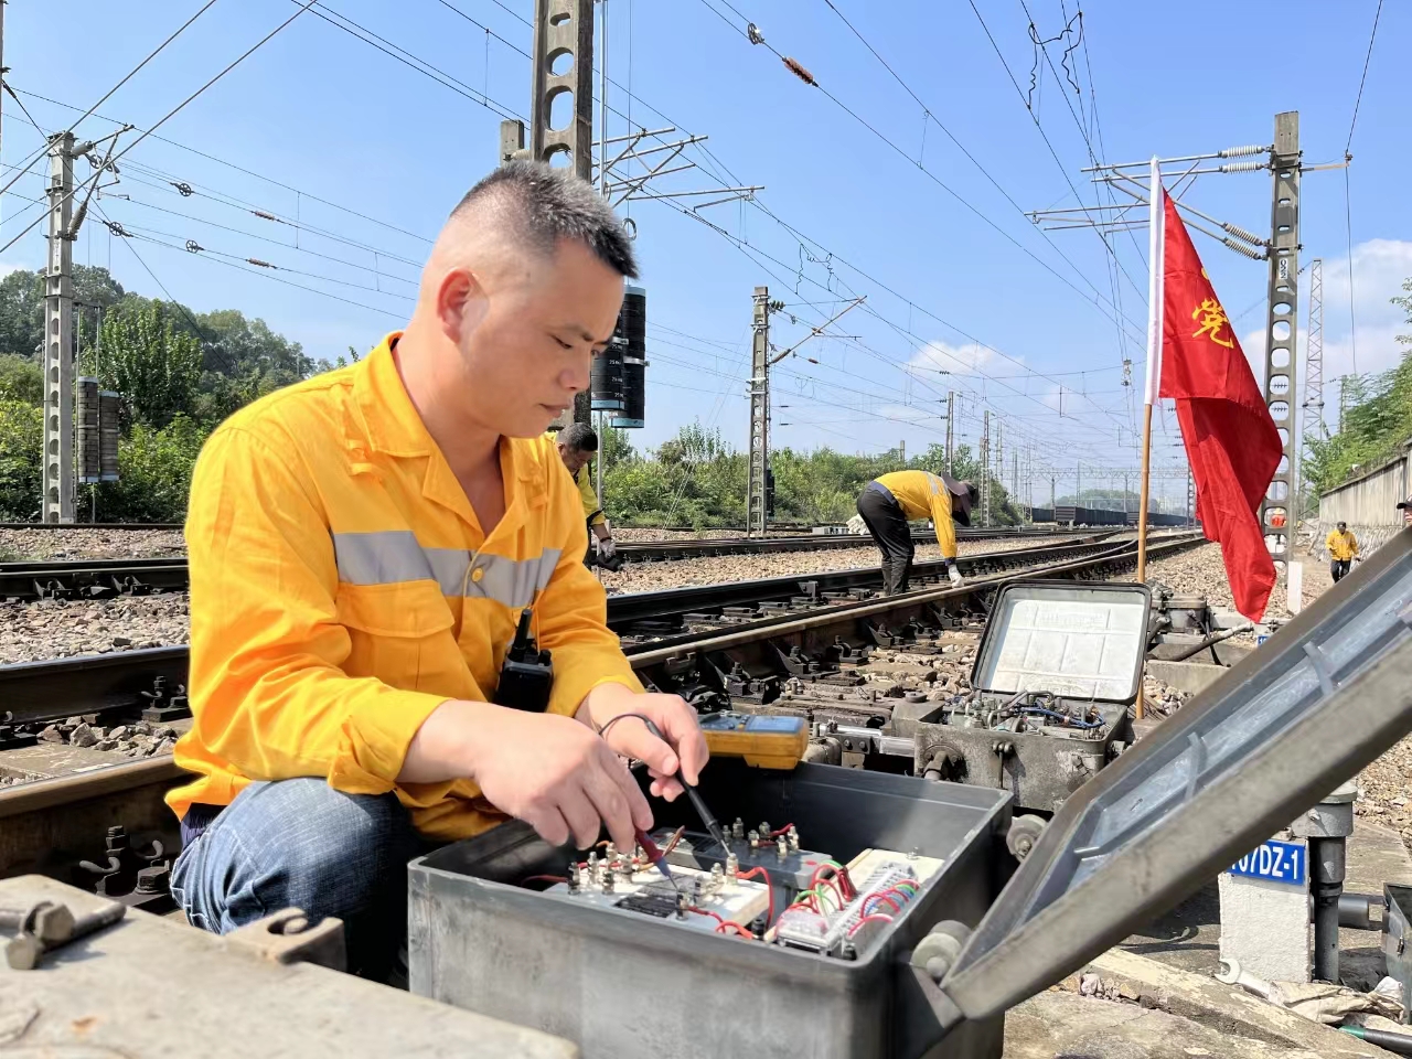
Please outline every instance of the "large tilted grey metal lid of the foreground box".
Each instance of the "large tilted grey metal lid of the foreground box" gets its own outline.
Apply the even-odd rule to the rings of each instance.
[[[942,979],[943,1021],[1082,969],[1409,730],[1404,530],[1065,803]]]

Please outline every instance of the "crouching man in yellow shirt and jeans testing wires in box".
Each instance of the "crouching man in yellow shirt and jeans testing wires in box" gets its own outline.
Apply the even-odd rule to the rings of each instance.
[[[696,782],[695,712],[645,695],[583,566],[548,425],[613,336],[631,244],[593,189],[513,162],[442,229],[407,329],[227,419],[186,521],[193,772],[172,894],[223,933],[285,907],[339,916],[349,963],[395,969],[405,866],[508,818],[631,849],[650,792]],[[497,705],[528,609],[544,700]],[[505,685],[507,688],[511,685]],[[518,685],[524,686],[524,685]],[[645,724],[613,724],[626,713]]]

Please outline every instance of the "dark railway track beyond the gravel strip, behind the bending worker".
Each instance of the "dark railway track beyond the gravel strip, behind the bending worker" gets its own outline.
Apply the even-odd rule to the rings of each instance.
[[[1036,539],[1059,537],[1049,530],[977,530],[963,531],[963,541]],[[1065,531],[1072,537],[1073,531]],[[918,532],[919,544],[935,541],[931,531]],[[820,534],[818,537],[720,538],[686,541],[635,541],[618,545],[618,555],[628,562],[664,562],[702,559],[722,555],[767,555],[775,552],[816,552],[840,548],[868,548],[871,537],[856,534]],[[119,559],[37,559],[0,562],[0,599],[106,599],[152,592],[184,592],[188,587],[185,556]]]

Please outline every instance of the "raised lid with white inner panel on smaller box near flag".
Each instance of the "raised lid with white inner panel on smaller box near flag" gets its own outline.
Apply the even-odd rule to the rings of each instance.
[[[971,686],[1132,702],[1142,682],[1145,585],[1003,585],[976,651]]]

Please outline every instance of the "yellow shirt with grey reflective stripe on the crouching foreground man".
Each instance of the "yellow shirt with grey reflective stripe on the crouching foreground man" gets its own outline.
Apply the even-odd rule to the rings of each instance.
[[[552,442],[501,439],[505,515],[487,537],[402,387],[390,335],[352,367],[236,412],[196,462],[186,517],[191,696],[167,803],[229,805],[251,779],[395,791],[419,832],[504,820],[476,784],[398,784],[448,699],[487,700],[534,602],[549,710],[641,690],[583,565],[579,496]]]

